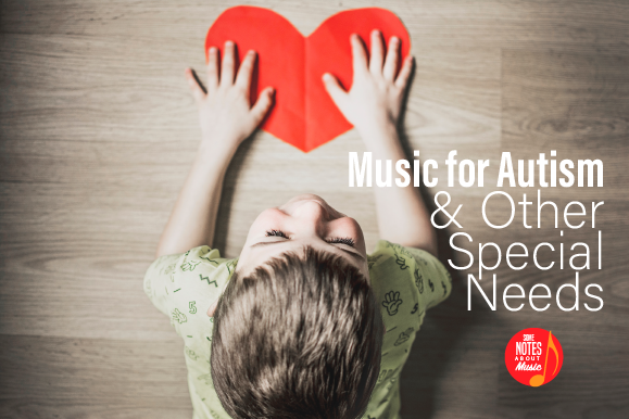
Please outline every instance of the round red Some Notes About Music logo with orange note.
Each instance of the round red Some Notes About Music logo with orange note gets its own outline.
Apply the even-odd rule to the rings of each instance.
[[[517,332],[504,352],[511,376],[523,384],[539,388],[559,373],[564,351],[552,331],[529,328]]]

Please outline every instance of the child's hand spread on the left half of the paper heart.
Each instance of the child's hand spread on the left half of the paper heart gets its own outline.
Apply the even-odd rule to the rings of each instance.
[[[218,51],[209,50],[207,81],[203,87],[197,81],[191,68],[186,78],[199,106],[202,144],[215,152],[234,153],[238,145],[260,125],[273,102],[273,88],[264,89],[251,106],[249,91],[255,52],[249,51],[240,64],[235,79],[235,46],[225,42],[225,54],[218,72]],[[206,91],[206,92],[205,92]]]

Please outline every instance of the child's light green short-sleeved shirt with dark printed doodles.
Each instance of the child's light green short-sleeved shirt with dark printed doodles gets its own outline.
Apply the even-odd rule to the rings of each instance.
[[[206,312],[225,289],[237,262],[202,245],[159,257],[144,275],[144,292],[155,307],[171,318],[171,325],[184,339],[193,419],[229,418],[212,384],[213,318]],[[431,254],[386,240],[378,241],[367,262],[387,333],[380,374],[364,418],[397,419],[400,417],[400,372],[415,333],[426,310],[448,297],[452,279]]]

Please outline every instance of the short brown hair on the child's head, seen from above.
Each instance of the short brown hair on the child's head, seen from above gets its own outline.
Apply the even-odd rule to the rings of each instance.
[[[306,246],[234,274],[214,314],[211,370],[232,418],[354,419],[378,379],[383,325],[366,278]]]

